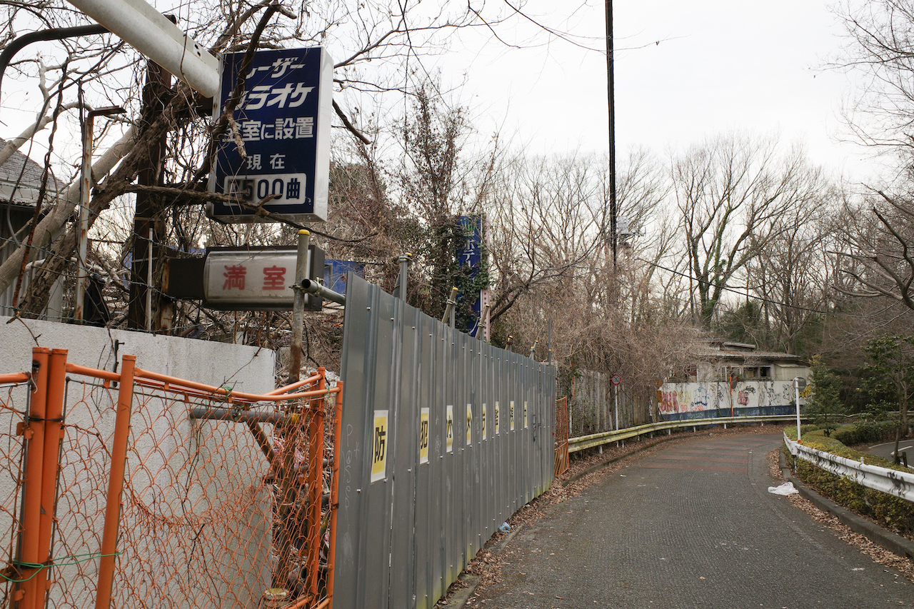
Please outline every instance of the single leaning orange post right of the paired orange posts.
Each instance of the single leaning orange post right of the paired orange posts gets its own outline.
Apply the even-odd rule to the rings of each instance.
[[[118,525],[121,521],[121,495],[127,466],[127,446],[130,443],[130,415],[133,404],[133,369],[136,356],[122,358],[121,380],[118,381],[117,414],[114,418],[112,443],[112,470],[108,478],[108,503],[105,506],[105,524],[101,534],[101,562],[99,585],[95,596],[96,609],[109,609],[112,604],[114,561],[117,551]]]

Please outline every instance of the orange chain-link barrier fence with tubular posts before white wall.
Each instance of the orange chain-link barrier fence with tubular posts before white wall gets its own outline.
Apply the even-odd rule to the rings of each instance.
[[[0,375],[4,607],[332,606],[342,383],[33,359]]]

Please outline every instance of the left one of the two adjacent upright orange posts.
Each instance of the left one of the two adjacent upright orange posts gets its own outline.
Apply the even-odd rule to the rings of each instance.
[[[26,479],[22,489],[21,534],[19,536],[18,578],[13,593],[13,606],[33,609],[38,605],[36,565],[38,564],[38,538],[41,528],[41,475],[45,455],[45,419],[48,410],[48,371],[50,349],[32,349],[32,392],[28,404],[28,417],[22,433],[26,437]]]

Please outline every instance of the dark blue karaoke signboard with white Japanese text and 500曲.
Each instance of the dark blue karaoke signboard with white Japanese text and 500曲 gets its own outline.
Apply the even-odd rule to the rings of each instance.
[[[243,58],[244,53],[227,53],[222,59],[215,117],[235,88]],[[326,219],[332,93],[333,60],[323,48],[255,53],[234,122],[219,138],[210,192],[262,202],[272,219]],[[221,201],[208,203],[207,214],[223,222],[270,220]]]

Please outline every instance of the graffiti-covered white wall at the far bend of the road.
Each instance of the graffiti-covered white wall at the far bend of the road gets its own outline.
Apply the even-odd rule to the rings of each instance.
[[[811,386],[800,392],[800,405]],[[791,380],[741,380],[727,382],[664,383],[659,411],[663,419],[789,414],[796,410]]]

